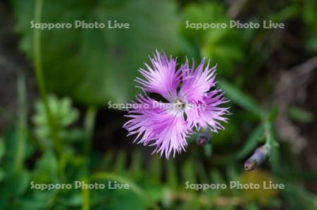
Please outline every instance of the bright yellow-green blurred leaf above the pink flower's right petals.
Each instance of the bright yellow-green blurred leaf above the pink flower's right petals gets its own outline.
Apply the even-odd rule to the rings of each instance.
[[[225,23],[227,27],[197,30],[187,27],[190,23]],[[182,32],[188,42],[199,42],[201,56],[211,58],[213,65],[218,63],[220,75],[231,73],[233,64],[241,61],[244,56],[243,40],[237,30],[230,28],[225,8],[221,4],[187,4],[183,11]]]

